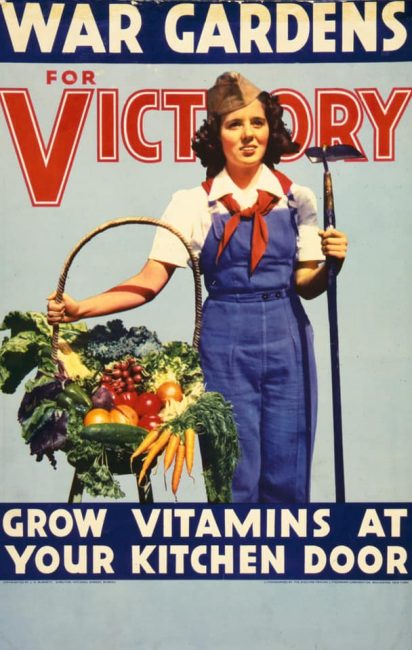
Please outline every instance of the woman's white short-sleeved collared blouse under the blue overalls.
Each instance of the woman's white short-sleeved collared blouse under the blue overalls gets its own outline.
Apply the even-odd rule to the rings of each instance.
[[[179,190],[172,196],[162,216],[162,221],[174,226],[190,242],[193,252],[200,254],[209,232],[214,213],[225,211],[219,198],[233,194],[240,207],[247,208],[257,200],[257,190],[265,190],[281,200],[274,210],[285,207],[297,210],[297,260],[299,262],[322,261],[325,259],[318,234],[316,197],[312,190],[292,183],[292,199],[283,193],[276,176],[266,165],[262,165],[254,182],[246,190],[240,189],[232,181],[225,169],[213,179],[209,195],[203,187]],[[181,241],[165,228],[157,228],[149,259],[185,267],[189,255]]]

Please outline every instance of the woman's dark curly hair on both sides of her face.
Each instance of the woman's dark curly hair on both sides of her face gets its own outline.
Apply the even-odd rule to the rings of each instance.
[[[283,108],[279,104],[278,98],[263,92],[258,95],[258,99],[263,104],[270,133],[263,162],[273,168],[283,154],[297,153],[300,145],[292,141],[290,132],[282,120]],[[226,164],[220,141],[221,124],[221,116],[212,115],[203,122],[192,138],[192,149],[203,167],[206,167],[208,178],[216,176]]]

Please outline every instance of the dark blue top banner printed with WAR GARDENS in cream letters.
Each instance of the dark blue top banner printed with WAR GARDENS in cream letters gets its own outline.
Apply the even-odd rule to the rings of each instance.
[[[0,61],[411,60],[412,2],[3,2]]]

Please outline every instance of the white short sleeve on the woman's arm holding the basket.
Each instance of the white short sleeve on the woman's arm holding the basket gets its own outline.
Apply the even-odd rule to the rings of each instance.
[[[194,229],[192,193],[191,190],[179,190],[173,194],[172,200],[161,218],[161,221],[176,228],[189,243],[192,242]],[[166,228],[158,227],[156,228],[149,259],[185,267],[189,261],[189,254],[176,235]]]

